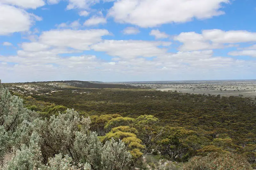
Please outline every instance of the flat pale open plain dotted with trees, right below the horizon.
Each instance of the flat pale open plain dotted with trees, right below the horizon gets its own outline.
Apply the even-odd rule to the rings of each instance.
[[[125,84],[160,91],[256,98],[256,80],[148,81]]]

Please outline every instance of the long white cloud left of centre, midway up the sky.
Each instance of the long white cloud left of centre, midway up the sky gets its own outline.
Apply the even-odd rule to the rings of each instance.
[[[100,42],[101,36],[108,35],[108,30],[51,30],[39,37],[39,42],[55,47],[67,47],[78,50],[90,50],[89,46]]]

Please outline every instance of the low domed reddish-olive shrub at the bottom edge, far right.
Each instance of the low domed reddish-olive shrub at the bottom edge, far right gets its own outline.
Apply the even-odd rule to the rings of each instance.
[[[251,170],[251,165],[243,157],[231,153],[213,152],[207,156],[191,158],[183,170]]]

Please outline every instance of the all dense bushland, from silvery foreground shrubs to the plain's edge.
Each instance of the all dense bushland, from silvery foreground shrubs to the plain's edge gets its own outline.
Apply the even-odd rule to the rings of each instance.
[[[15,126],[0,120],[1,134],[6,136],[0,139],[4,146],[0,161],[11,155],[3,163],[6,167],[20,166],[19,158],[25,154],[44,168],[57,161],[69,169],[179,169],[175,161],[188,160],[184,169],[256,167],[256,105],[249,98],[145,89],[61,90],[42,95],[12,91],[34,111],[24,108],[17,123],[15,114],[12,121],[5,119],[7,124],[15,120]],[[1,91],[2,96],[7,93]],[[11,98],[21,102],[14,96],[10,102]],[[22,110],[21,103],[17,107]],[[3,113],[6,117],[12,112]],[[29,156],[34,152],[36,157]]]

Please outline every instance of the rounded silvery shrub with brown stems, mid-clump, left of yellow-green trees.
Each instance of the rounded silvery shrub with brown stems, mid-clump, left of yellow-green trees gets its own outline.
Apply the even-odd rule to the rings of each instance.
[[[84,146],[89,143],[90,118],[79,117],[74,109],[67,110],[66,114],[51,116],[49,120],[36,121],[35,131],[42,138],[42,154],[44,160],[53,157],[55,154],[68,154],[72,159],[80,161],[82,151],[76,152],[76,146]],[[79,136],[79,137],[77,137]],[[97,136],[96,136],[97,138]],[[81,140],[82,139],[82,140]],[[77,141],[80,143],[77,144]],[[85,147],[85,146],[84,146]]]

